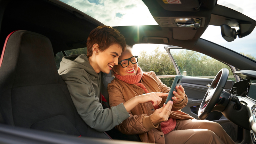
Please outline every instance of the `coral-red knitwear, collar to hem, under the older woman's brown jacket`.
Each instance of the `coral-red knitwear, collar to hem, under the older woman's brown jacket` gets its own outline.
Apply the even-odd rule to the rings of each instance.
[[[145,93],[149,93],[148,90],[146,89],[145,85],[142,84],[142,83],[139,83],[140,80],[141,80],[141,77],[142,77],[142,70],[141,70],[140,67],[138,67],[138,71],[137,71],[136,75],[120,76],[120,75],[114,73],[114,76],[117,79],[119,79],[119,80],[121,80],[121,81],[123,81],[123,82],[125,82],[127,84],[136,84],[142,90],[144,90]],[[151,102],[152,102],[152,104],[154,103],[153,101],[151,101]],[[154,108],[158,109],[160,107],[159,106],[155,106]],[[172,130],[174,130],[175,127],[176,127],[176,119],[172,119],[170,117],[168,118],[167,121],[161,123],[161,129],[162,129],[162,132],[164,134],[167,134],[167,133],[171,132]]]

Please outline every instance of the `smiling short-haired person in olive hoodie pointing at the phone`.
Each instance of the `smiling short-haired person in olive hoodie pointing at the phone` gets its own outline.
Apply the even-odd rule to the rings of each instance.
[[[109,73],[118,64],[118,58],[125,50],[126,42],[120,32],[109,26],[99,26],[92,30],[87,39],[87,56],[73,54],[62,58],[59,74],[68,86],[70,96],[78,114],[84,122],[97,131],[111,130],[130,117],[129,111],[139,103],[153,101],[154,106],[161,102],[159,96],[166,93],[143,94],[121,103],[111,109],[101,105],[100,71]],[[163,113],[170,114],[169,102]]]

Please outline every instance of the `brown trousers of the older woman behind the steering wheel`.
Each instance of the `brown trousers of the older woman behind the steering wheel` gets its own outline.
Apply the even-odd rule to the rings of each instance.
[[[196,119],[177,120],[164,139],[166,144],[235,144],[220,124]]]

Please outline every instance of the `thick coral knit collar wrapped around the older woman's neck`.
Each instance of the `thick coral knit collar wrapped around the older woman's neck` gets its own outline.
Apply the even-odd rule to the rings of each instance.
[[[132,75],[132,76],[130,76],[130,75],[129,75],[129,76],[120,76],[120,75],[114,73],[114,76],[115,76],[117,79],[119,79],[119,80],[121,80],[121,81],[123,81],[123,82],[125,82],[125,83],[127,83],[127,84],[137,84],[137,83],[140,82],[140,79],[141,79],[141,77],[142,77],[142,70],[141,70],[140,67],[138,67],[138,71],[137,71],[137,74],[136,74],[136,75]]]

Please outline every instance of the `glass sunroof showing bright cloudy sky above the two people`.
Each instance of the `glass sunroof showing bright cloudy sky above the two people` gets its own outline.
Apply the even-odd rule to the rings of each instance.
[[[158,25],[141,0],[60,0],[107,26]]]

